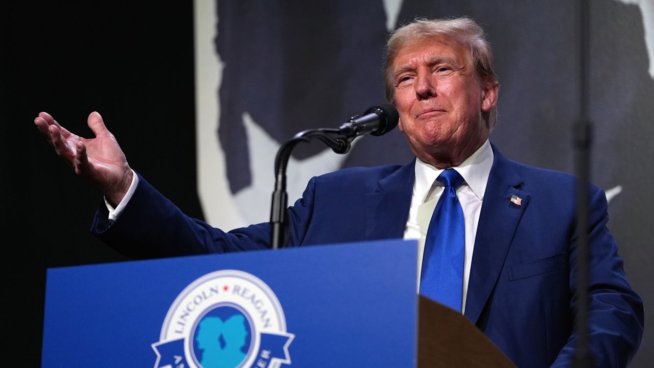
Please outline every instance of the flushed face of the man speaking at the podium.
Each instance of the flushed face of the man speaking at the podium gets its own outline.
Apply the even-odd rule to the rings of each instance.
[[[400,48],[392,71],[398,127],[422,161],[455,166],[486,141],[490,126],[482,116],[495,106],[498,88],[478,80],[463,46],[420,39]]]

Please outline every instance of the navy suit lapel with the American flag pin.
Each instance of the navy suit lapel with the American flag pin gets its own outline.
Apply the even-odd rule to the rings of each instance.
[[[473,323],[479,320],[497,283],[513,234],[529,201],[529,194],[519,189],[523,180],[514,164],[495,146],[492,148],[494,162],[479,214],[466,297],[465,315]],[[511,195],[521,198],[521,204],[511,203]]]

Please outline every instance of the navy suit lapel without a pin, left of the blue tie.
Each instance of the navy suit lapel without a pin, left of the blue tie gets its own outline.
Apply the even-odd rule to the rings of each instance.
[[[379,180],[374,192],[366,194],[366,239],[402,239],[409,217],[415,159]]]

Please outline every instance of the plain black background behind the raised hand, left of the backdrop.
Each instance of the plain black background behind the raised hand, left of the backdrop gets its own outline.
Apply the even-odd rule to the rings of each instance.
[[[130,165],[201,218],[192,2],[21,1],[3,13],[3,319],[12,331],[3,355],[38,367],[46,269],[126,258],[88,231],[101,193],[56,156],[33,120],[50,112],[93,137],[86,118],[100,112]]]

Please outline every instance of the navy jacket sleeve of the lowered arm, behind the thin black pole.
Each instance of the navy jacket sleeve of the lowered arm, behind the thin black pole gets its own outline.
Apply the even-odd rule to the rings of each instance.
[[[606,227],[606,195],[594,188],[589,200],[589,350],[596,367],[626,367],[634,357],[644,326],[642,300],[630,287],[617,254],[617,243]],[[577,237],[571,240],[570,310],[577,313]],[[573,331],[552,367],[572,367],[577,334]]]

